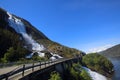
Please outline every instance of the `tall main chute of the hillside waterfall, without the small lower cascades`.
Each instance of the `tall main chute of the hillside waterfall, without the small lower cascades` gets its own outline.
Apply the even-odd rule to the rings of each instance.
[[[9,16],[8,22],[10,27],[12,27],[17,33],[22,35],[22,37],[25,39],[25,42],[32,46],[33,51],[40,52],[45,49],[43,45],[40,45],[39,43],[37,43],[31,36],[27,34],[25,25],[20,19],[16,18],[15,16],[12,16],[8,12],[7,14]]]

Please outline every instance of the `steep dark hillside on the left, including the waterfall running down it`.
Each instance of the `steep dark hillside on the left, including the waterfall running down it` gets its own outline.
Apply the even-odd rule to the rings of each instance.
[[[35,53],[47,59],[85,54],[50,40],[27,20],[0,8],[0,59],[16,61],[31,58]]]

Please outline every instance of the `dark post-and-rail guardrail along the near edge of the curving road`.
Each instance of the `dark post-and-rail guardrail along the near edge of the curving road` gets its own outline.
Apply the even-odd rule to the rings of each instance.
[[[75,58],[73,58],[75,59]],[[9,77],[21,73],[22,77],[24,77],[25,71],[31,69],[32,72],[34,71],[35,67],[39,67],[39,69],[41,69],[41,66],[44,65],[44,68],[48,67],[47,65],[54,65],[60,62],[64,62],[64,61],[68,61],[71,59],[59,59],[59,60],[55,60],[55,61],[45,61],[45,62],[38,62],[38,63],[32,63],[30,64],[31,66],[29,66],[28,64],[25,65],[23,64],[20,68],[14,69],[13,71],[10,71],[6,74],[2,74],[0,75],[0,80],[5,79],[8,80]]]

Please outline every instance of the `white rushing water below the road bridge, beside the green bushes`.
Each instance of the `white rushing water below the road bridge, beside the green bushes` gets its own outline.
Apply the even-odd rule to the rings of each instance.
[[[91,76],[93,80],[107,80],[107,78],[95,71],[91,71],[90,69],[83,67]]]

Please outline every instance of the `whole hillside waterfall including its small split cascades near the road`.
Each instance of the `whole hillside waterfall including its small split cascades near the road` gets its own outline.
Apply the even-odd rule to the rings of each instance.
[[[45,54],[40,52],[42,50],[45,50],[44,46],[37,43],[30,35],[27,34],[25,25],[20,19],[11,15],[9,12],[7,12],[7,14],[9,16],[8,18],[9,26],[12,27],[17,33],[21,34],[26,44],[32,47],[33,52],[27,55],[26,58],[31,58],[35,52],[37,52],[40,57],[44,57]],[[54,59],[62,58],[57,54],[51,54],[51,55],[52,58]]]

